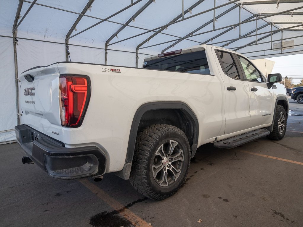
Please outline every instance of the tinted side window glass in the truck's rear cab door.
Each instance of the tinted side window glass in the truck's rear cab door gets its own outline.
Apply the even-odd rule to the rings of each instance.
[[[225,74],[233,79],[240,79],[238,70],[235,66],[235,61],[231,54],[223,51],[218,51],[219,60],[222,63],[222,70]]]

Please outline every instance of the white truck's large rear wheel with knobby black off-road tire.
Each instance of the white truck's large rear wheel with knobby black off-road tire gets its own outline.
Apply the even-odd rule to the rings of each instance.
[[[190,147],[184,132],[172,125],[151,125],[137,135],[129,180],[144,196],[166,199],[185,182],[189,164]]]

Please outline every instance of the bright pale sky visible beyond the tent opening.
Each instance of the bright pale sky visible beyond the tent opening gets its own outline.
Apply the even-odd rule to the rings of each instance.
[[[303,54],[294,54],[281,57],[271,57],[275,65],[271,73],[281,73],[282,77],[291,77],[292,83],[298,84],[303,79]]]

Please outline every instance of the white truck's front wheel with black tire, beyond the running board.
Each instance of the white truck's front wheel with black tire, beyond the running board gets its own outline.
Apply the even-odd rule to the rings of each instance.
[[[274,119],[274,128],[266,137],[271,140],[283,139],[286,132],[287,117],[283,106],[277,105]]]

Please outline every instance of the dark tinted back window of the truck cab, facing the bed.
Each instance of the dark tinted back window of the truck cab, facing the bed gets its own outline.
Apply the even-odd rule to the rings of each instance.
[[[210,75],[204,50],[150,60],[143,68]]]

